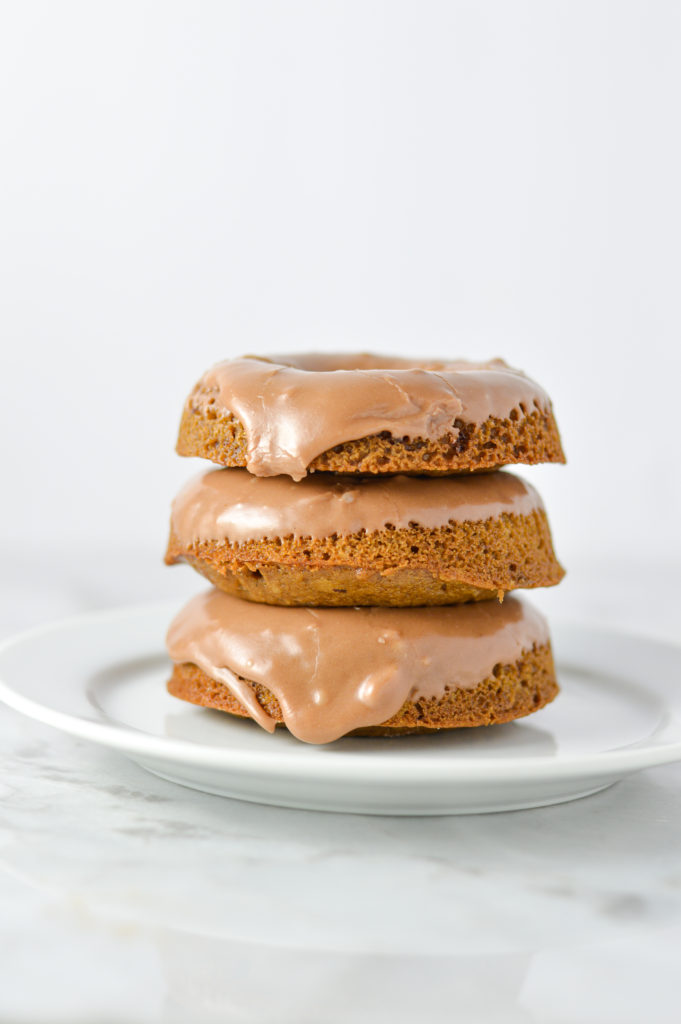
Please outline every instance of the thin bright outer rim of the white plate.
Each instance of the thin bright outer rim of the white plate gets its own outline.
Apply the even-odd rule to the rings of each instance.
[[[310,772],[309,755],[302,750],[287,750],[280,748],[271,751],[252,751],[217,745],[204,745],[186,739],[175,739],[167,736],[157,736],[133,726],[122,723],[97,721],[82,718],[70,712],[58,711],[41,703],[32,697],[25,696],[20,690],[8,683],[4,678],[3,656],[10,650],[20,647],[27,642],[42,636],[58,633],[65,629],[87,628],[91,625],[101,625],[108,621],[136,617],[141,614],[156,615],[172,614],[176,610],[176,602],[154,601],[137,604],[117,605],[100,608],[94,611],[80,612],[57,620],[30,627],[0,641],[0,701],[14,711],[43,724],[49,725],[80,739],[86,739],[102,746],[118,750],[135,756],[173,761],[178,764],[196,767],[210,767],[221,770],[238,770],[248,775],[269,775],[274,766],[280,777],[298,778],[300,774]],[[681,664],[681,644],[668,640],[659,640],[645,634],[631,633],[629,630],[612,627],[592,626],[573,618],[557,618],[552,624],[552,630],[576,630],[592,638],[616,640],[627,638],[629,641],[643,643],[657,649],[663,648],[669,655],[676,655]],[[170,664],[170,659],[169,664]],[[644,683],[640,685],[645,686]],[[305,748],[308,744],[303,744]],[[321,758],[314,761],[314,778],[327,781],[351,782],[367,778],[370,769],[372,782],[394,781],[403,784],[414,780],[414,769],[418,767],[420,784],[444,783],[472,780],[499,781],[500,769],[504,768],[504,778],[511,781],[538,779],[541,775],[549,778],[570,778],[594,773],[633,772],[642,768],[671,764],[681,760],[681,739],[676,742],[650,744],[634,748],[614,748],[590,754],[536,755],[530,757],[518,755],[513,757],[490,757],[483,761],[467,760],[465,756],[450,755],[448,758],[431,759],[419,757],[417,753],[410,754],[409,759],[396,761],[394,758],[381,760],[375,753],[358,751],[352,757],[334,756],[333,744],[323,744],[317,750],[331,753],[328,761]],[[417,763],[415,765],[415,762]]]

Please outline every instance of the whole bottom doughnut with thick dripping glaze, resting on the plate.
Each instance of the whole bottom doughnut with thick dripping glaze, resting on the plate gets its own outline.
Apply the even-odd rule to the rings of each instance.
[[[278,608],[211,589],[175,617],[167,645],[173,696],[309,743],[509,722],[558,692],[546,622],[515,596]]]

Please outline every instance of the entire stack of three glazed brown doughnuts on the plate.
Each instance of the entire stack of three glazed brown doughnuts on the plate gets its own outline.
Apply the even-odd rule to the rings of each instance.
[[[542,500],[548,395],[501,359],[245,356],[187,398],[166,561],[212,587],[168,633],[169,691],[307,742],[508,722],[558,692]]]

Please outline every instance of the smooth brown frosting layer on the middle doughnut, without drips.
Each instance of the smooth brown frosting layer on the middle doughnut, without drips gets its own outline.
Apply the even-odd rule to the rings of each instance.
[[[278,537],[325,538],[449,522],[479,521],[542,509],[538,493],[510,473],[471,476],[253,476],[216,469],[190,480],[173,502],[171,529],[180,544],[241,544]]]

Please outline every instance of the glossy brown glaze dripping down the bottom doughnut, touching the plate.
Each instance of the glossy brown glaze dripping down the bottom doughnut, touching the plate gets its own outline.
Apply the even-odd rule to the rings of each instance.
[[[380,725],[408,699],[473,689],[496,665],[548,642],[544,617],[517,597],[436,608],[281,608],[217,590],[189,601],[167,638],[173,662],[197,665],[273,732],[244,680],[266,686],[288,729],[309,743]]]

